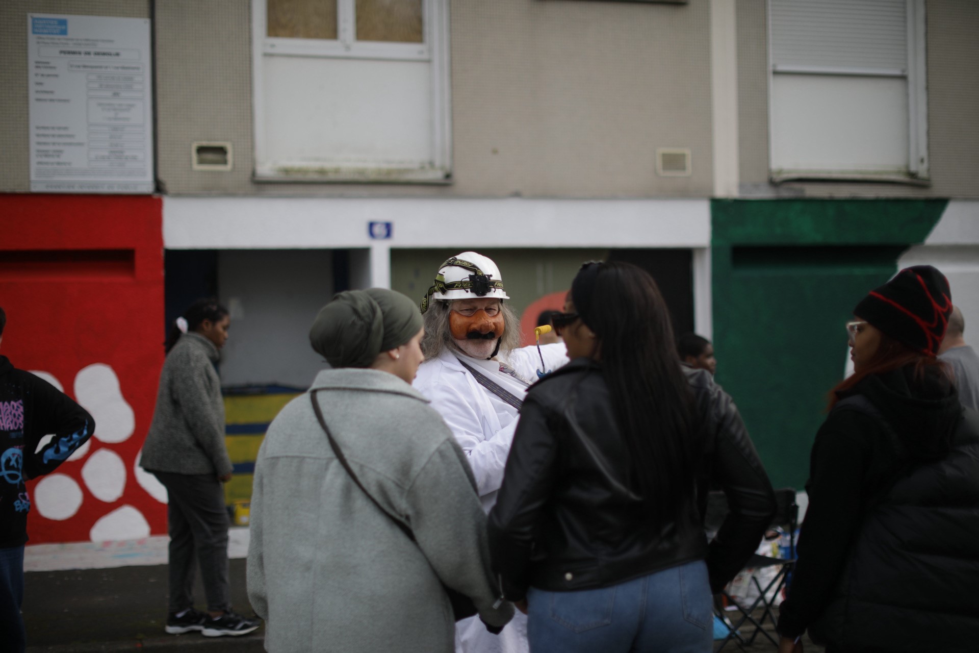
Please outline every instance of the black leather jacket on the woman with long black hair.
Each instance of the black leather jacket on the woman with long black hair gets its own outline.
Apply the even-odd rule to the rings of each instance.
[[[552,591],[624,583],[692,560],[707,560],[720,589],[754,552],[775,509],[768,475],[730,397],[703,370],[684,368],[702,428],[698,496],[711,482],[730,513],[710,546],[702,507],[681,520],[647,523],[624,483],[629,459],[598,363],[578,358],[530,390],[489,513],[492,564],[504,595],[533,585]]]

